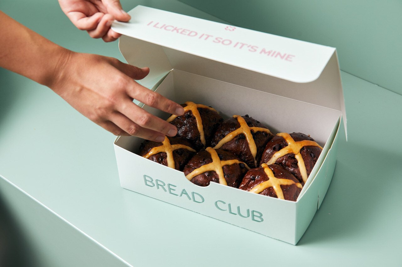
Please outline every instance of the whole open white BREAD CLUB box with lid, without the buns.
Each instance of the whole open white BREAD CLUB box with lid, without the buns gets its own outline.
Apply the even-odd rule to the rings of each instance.
[[[123,34],[127,62],[150,67],[144,86],[177,103],[212,106],[224,119],[248,114],[274,134],[310,134],[324,150],[293,202],[213,182],[197,186],[135,154],[142,139],[120,136],[114,146],[121,186],[295,245],[326,194],[346,121],[336,49],[145,6],[129,14],[130,22],[112,28]]]

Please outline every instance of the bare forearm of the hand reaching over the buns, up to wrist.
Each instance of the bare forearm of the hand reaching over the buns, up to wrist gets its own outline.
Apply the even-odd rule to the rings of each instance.
[[[71,51],[0,11],[0,67],[51,87]]]

